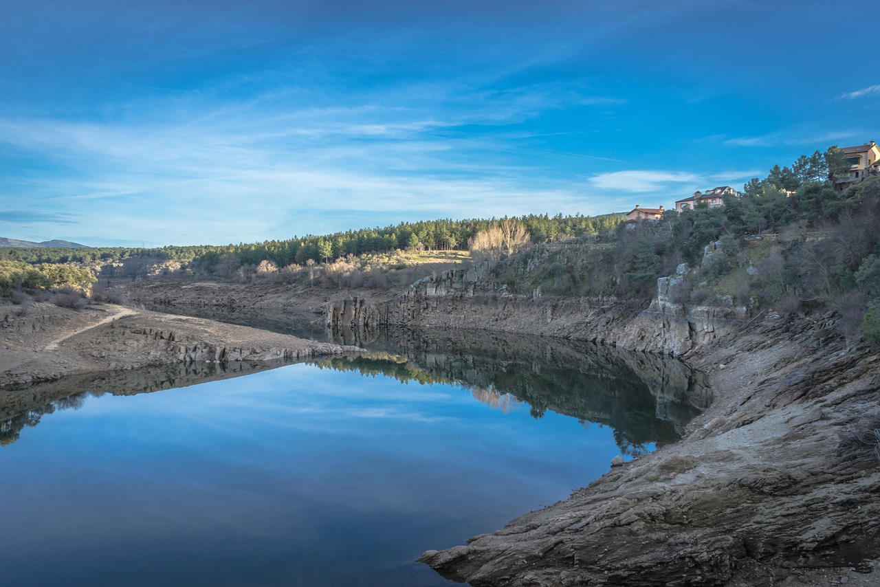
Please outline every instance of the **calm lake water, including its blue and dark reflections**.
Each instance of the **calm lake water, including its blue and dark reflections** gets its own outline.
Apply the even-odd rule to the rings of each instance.
[[[674,442],[708,402],[680,363],[405,338],[0,396],[0,583],[454,584],[414,559]]]

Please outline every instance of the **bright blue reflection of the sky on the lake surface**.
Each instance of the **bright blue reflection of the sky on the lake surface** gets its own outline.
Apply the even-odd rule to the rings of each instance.
[[[306,364],[105,395],[0,449],[0,569],[32,585],[443,585],[423,550],[568,496],[619,451],[611,429],[527,405]]]

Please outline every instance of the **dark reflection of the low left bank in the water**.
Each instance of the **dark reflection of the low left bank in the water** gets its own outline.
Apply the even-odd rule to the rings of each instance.
[[[130,371],[102,371],[4,390],[0,394],[0,446],[14,443],[23,429],[39,424],[42,416],[58,410],[78,409],[89,397],[105,393],[137,395],[159,392],[241,377],[285,364],[289,363],[190,363],[143,367]]]

